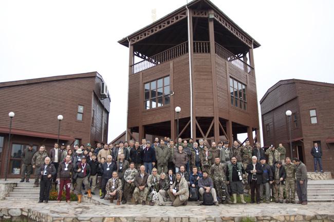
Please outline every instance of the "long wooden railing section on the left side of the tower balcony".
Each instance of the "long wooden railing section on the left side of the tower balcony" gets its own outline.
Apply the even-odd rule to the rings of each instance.
[[[171,60],[173,58],[179,57],[181,55],[187,54],[188,49],[188,42],[181,43],[177,46],[174,46],[170,49],[167,49],[165,51],[162,51],[156,55],[153,55],[149,58],[146,58],[134,65],[132,65],[132,73],[137,73],[140,71],[143,71],[145,69],[149,69],[151,67],[154,67],[156,65],[159,65],[161,63],[164,63],[168,60]]]

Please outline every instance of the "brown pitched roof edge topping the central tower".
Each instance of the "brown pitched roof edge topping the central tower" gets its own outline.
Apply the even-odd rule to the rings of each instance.
[[[249,37],[250,39],[253,39],[253,45],[254,45],[254,48],[257,48],[257,47],[261,46],[257,41],[255,41],[255,39],[254,39],[252,36],[250,36],[247,32],[245,32],[242,28],[240,28],[236,23],[234,23],[234,22],[232,21],[231,18],[229,18],[224,12],[222,12],[217,6],[215,6],[215,5],[214,5],[212,2],[210,2],[209,0],[194,0],[194,1],[190,2],[190,3],[188,3],[187,5],[184,5],[184,6],[180,7],[180,8],[178,8],[178,9],[176,9],[175,11],[173,11],[173,12],[171,12],[171,13],[169,13],[169,14],[163,16],[162,18],[158,19],[158,20],[155,21],[154,23],[151,23],[150,25],[145,26],[144,28],[139,29],[139,30],[137,30],[136,32],[134,32],[134,33],[132,33],[132,34],[130,34],[130,35],[128,35],[128,36],[126,36],[126,37],[120,39],[120,40],[118,41],[118,43],[119,43],[119,44],[122,44],[122,45],[124,45],[124,46],[128,46],[128,40],[127,40],[127,39],[132,38],[133,36],[139,34],[140,32],[142,32],[142,31],[144,31],[144,30],[146,30],[146,29],[148,30],[148,29],[150,29],[150,28],[156,26],[157,24],[159,24],[160,22],[162,22],[162,21],[163,21],[164,19],[166,19],[167,17],[172,16],[172,15],[175,15],[175,14],[179,13],[180,11],[184,10],[185,7],[191,7],[191,6],[194,6],[194,5],[196,5],[196,4],[200,3],[200,2],[204,2],[204,3],[208,4],[212,9],[216,10],[217,12],[219,12],[219,13],[220,13],[222,16],[224,16],[229,22],[231,22],[237,29],[239,29],[240,32],[244,33],[244,34],[245,34],[247,37]]]

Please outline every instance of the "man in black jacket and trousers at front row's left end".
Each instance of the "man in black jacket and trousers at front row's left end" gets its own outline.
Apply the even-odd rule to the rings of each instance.
[[[45,200],[45,203],[48,203],[52,177],[57,175],[57,171],[55,170],[54,165],[50,164],[49,157],[46,157],[44,159],[44,164],[42,164],[41,167],[38,169],[37,175],[41,175],[40,200],[38,203],[43,203],[43,200]]]

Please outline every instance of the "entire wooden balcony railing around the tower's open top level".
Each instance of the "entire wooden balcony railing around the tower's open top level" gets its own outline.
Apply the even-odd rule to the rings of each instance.
[[[210,42],[198,42],[194,41],[193,43],[194,53],[210,53]],[[157,66],[164,62],[168,62],[176,57],[187,54],[189,52],[188,42],[181,43],[177,46],[174,46],[170,49],[162,51],[156,55],[153,55],[149,58],[143,59],[142,61],[132,65],[132,73],[138,73],[145,69]],[[247,72],[248,74],[252,73],[254,70],[250,65],[245,63],[243,60],[235,56],[232,52],[215,43],[215,53],[227,60],[229,63],[234,65],[240,70]]]

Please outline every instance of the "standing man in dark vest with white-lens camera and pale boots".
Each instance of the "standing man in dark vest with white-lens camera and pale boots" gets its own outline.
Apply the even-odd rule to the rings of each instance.
[[[236,204],[236,195],[239,194],[241,203],[246,204],[244,200],[244,180],[243,175],[245,170],[240,162],[237,162],[235,156],[231,158],[231,164],[227,165],[228,170],[226,171],[227,183],[230,184],[233,204]]]

